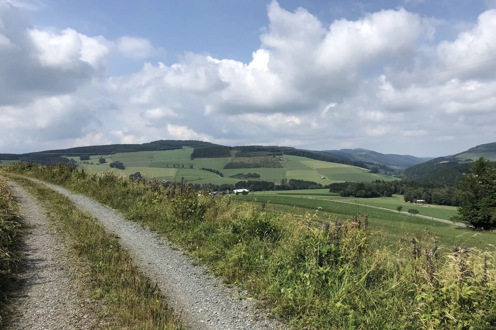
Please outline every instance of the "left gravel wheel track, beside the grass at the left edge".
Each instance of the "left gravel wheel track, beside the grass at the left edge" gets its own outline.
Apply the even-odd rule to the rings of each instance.
[[[81,283],[74,279],[63,238],[49,226],[37,200],[18,185],[9,182],[18,198],[28,225],[21,251],[18,295],[9,304],[13,310],[7,330],[95,329],[98,316],[93,302],[85,300]]]

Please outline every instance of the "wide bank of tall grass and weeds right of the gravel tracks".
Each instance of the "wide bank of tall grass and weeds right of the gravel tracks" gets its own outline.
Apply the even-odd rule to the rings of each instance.
[[[177,242],[296,329],[495,329],[495,254],[428,232],[384,246],[367,215],[316,222],[115,171],[9,165],[121,210]]]

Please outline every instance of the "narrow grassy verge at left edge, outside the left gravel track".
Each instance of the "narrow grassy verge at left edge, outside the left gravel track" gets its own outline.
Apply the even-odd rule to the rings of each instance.
[[[22,237],[20,215],[19,205],[0,173],[0,328],[4,316],[3,306],[19,261],[15,250]]]

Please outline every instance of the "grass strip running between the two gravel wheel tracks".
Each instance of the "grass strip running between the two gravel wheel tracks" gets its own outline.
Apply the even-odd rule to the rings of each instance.
[[[50,219],[67,235],[74,253],[89,262],[92,294],[104,299],[118,323],[116,329],[182,329],[157,287],[133,265],[114,235],[55,190],[11,177],[50,210]]]

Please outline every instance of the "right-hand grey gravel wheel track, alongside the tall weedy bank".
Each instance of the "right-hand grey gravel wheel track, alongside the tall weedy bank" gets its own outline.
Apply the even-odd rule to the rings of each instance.
[[[265,312],[256,310],[253,301],[238,299],[243,296],[242,292],[223,286],[219,279],[205,275],[204,267],[191,265],[180,250],[169,247],[164,237],[136,222],[125,220],[117,211],[86,196],[41,183],[69,197],[79,208],[100,220],[108,231],[115,232],[137,265],[157,282],[170,306],[181,313],[182,323],[189,329],[287,329],[269,320]]]

